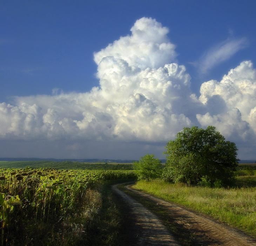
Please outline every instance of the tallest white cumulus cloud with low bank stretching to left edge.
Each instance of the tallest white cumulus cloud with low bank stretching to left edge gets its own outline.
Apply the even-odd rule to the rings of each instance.
[[[15,106],[2,104],[6,126],[1,137],[149,142],[173,138],[192,125],[186,111],[194,99],[186,68],[170,63],[176,52],[168,32],[156,20],[141,18],[131,35],[95,52],[99,87],[88,93],[53,89],[50,96],[16,97]]]

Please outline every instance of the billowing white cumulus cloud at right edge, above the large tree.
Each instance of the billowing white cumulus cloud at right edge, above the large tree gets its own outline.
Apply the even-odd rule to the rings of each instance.
[[[207,109],[214,106],[211,101],[216,96],[221,106],[216,105],[215,113],[197,114],[198,122],[202,126],[215,125],[229,139],[250,142],[253,148],[256,134],[256,70],[252,62],[243,61],[224,75],[220,82],[204,82],[200,93],[199,100]]]

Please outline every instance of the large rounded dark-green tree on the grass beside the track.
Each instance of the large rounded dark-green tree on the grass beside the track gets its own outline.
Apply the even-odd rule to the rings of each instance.
[[[178,132],[166,145],[163,179],[171,182],[227,186],[238,165],[235,143],[226,141],[214,126],[193,126]]]

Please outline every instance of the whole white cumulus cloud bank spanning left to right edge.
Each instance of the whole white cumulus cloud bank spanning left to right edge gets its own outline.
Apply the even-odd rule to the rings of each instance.
[[[184,126],[215,125],[233,140],[255,139],[256,71],[250,61],[220,82],[204,82],[197,98],[186,68],[175,63],[168,28],[143,17],[130,31],[94,53],[99,87],[1,103],[0,138],[163,143]]]

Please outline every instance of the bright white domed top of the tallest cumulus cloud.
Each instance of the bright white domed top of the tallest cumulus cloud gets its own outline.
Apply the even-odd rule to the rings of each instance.
[[[155,19],[143,17],[130,30],[131,35],[121,37],[105,49],[94,54],[97,65],[104,57],[126,61],[131,68],[159,68],[176,57],[175,45],[169,42],[168,28]]]

